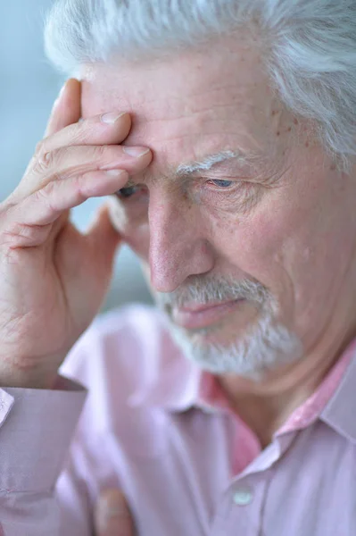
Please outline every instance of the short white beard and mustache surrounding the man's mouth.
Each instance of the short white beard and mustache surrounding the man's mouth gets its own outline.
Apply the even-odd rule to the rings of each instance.
[[[214,328],[185,331],[172,322],[172,306],[209,303],[224,299],[244,298],[254,303],[260,312],[260,320],[247,328],[244,334],[230,344],[204,341],[204,334]],[[231,279],[207,279],[191,277],[189,284],[170,293],[155,293],[157,304],[164,316],[173,339],[184,355],[203,369],[216,374],[235,373],[253,381],[261,381],[264,373],[280,365],[291,364],[303,354],[302,341],[277,322],[277,304],[268,289],[258,281],[233,281]],[[216,328],[219,332],[219,327]]]

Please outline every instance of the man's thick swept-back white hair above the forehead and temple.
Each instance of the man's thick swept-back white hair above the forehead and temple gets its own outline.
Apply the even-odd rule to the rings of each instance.
[[[255,45],[282,103],[310,120],[338,169],[351,172],[355,0],[57,0],[46,17],[45,46],[60,71],[76,76],[84,64],[116,54],[174,53],[246,27],[259,29]]]

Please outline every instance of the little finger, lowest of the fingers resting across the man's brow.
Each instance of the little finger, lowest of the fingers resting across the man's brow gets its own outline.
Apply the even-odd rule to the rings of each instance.
[[[3,233],[11,240],[10,247],[35,247],[43,244],[51,230],[50,224],[89,197],[114,194],[128,181],[122,170],[89,172],[69,180],[55,180],[45,188],[26,197],[7,210]]]

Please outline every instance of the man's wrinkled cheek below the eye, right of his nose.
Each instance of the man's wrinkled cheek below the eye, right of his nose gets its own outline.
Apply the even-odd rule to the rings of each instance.
[[[332,286],[330,236],[325,239],[317,229],[312,210],[289,208],[224,222],[214,245],[229,265],[267,287],[283,321],[302,333]]]

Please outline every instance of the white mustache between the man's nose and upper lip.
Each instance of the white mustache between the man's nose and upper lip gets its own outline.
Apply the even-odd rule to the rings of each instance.
[[[173,292],[157,292],[155,297],[159,306],[171,309],[183,307],[192,302],[209,305],[211,302],[224,302],[236,299],[247,299],[263,305],[269,298],[269,290],[258,281],[233,281],[222,278],[204,280],[195,276],[189,284],[179,287]]]

